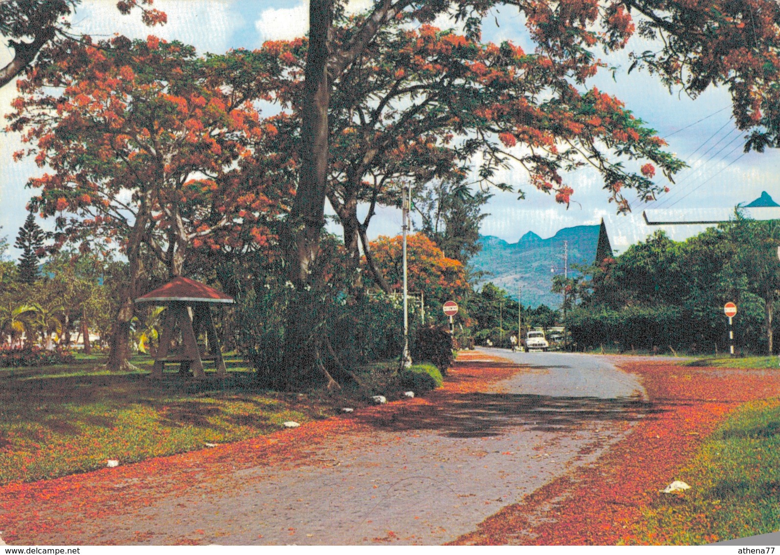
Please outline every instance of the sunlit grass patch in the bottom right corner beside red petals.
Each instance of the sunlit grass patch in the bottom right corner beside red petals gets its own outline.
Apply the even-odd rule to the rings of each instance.
[[[697,545],[780,530],[780,399],[735,411],[659,494],[631,543]]]

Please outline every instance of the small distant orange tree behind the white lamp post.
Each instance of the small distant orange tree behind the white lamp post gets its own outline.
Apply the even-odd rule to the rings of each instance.
[[[425,305],[441,308],[446,301],[462,301],[469,294],[466,268],[455,258],[447,258],[436,244],[422,233],[406,237],[408,287],[423,293]],[[381,236],[371,241],[378,269],[387,279],[390,290],[403,290],[402,237]]]

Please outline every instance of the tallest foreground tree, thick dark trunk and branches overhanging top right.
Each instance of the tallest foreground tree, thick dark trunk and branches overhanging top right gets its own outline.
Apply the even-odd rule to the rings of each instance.
[[[773,0],[379,0],[367,16],[339,33],[344,5],[343,0],[310,2],[310,42],[300,100],[304,130],[300,183],[292,212],[294,237],[288,241],[289,258],[298,262],[290,267],[299,285],[308,281],[308,268],[317,257],[328,174],[336,159],[330,157],[333,101],[342,92],[348,95],[358,82],[350,77],[365,75],[361,62],[397,20],[428,23],[446,13],[463,25],[467,39],[475,39],[491,9],[509,6],[526,20],[545,69],[567,73],[569,79],[598,69],[597,48],[626,48],[637,31],[660,38],[657,49],[633,55],[634,66],[645,66],[670,87],[682,87],[692,95],[710,84],[729,87],[737,126],[751,130],[747,146],[780,144],[780,93],[772,85],[780,71],[780,6]],[[511,143],[512,137],[505,138]],[[622,140],[622,134],[615,139]],[[564,187],[560,185],[562,198],[571,194]]]

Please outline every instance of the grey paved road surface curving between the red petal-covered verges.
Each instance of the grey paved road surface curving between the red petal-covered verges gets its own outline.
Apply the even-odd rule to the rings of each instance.
[[[484,352],[529,368],[335,439],[296,468],[229,472],[208,493],[109,519],[90,543],[445,543],[593,461],[639,418],[642,387],[605,358]]]

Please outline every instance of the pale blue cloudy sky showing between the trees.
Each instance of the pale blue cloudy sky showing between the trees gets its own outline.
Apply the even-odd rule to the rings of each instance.
[[[370,3],[369,0],[353,0],[353,9],[364,9]],[[129,37],[145,37],[152,33],[167,40],[176,38],[194,44],[200,52],[257,48],[265,40],[300,36],[307,29],[308,7],[301,0],[157,0],[155,7],[168,13],[169,23],[165,27],[150,30],[140,24],[137,15],[119,15],[114,0],[84,0],[73,17],[73,24],[76,30],[94,37],[110,36],[118,31]],[[488,18],[484,40],[511,40],[527,51],[533,48],[516,11],[502,8],[493,15],[499,26],[494,18]],[[449,27],[445,18],[437,23],[440,27]],[[629,48],[641,52],[648,45],[633,41]],[[5,65],[11,55],[9,48],[0,46],[0,64]],[[551,237],[563,227],[594,224],[603,217],[613,247],[623,251],[653,231],[644,225],[643,208],[732,207],[752,201],[762,190],[780,201],[780,152],[742,155],[742,135],[729,120],[728,91],[711,89],[694,101],[676,91],[669,94],[647,73],[635,71],[626,75],[629,66],[626,52],[612,55],[606,61],[621,67],[616,81],[612,80],[611,74],[603,72],[590,84],[625,101],[635,116],[658,130],[661,137],[667,137],[669,149],[692,167],[675,178],[676,185],[668,183],[670,193],[653,205],[646,206],[629,197],[633,213],[628,216],[615,215],[615,206],[608,204],[601,180],[590,169],[580,169],[567,178],[575,190],[574,202],[568,210],[556,205],[547,194],[528,187],[527,175],[521,169],[514,169],[508,171],[503,180],[525,190],[527,198],[519,201],[516,194],[496,193],[485,207],[490,215],[483,222],[481,231],[484,235],[514,242],[533,230],[541,237]],[[12,86],[0,90],[0,112],[8,111],[13,96]],[[30,176],[44,171],[29,160],[12,162],[11,153],[19,148],[18,144],[17,137],[0,136],[0,237],[8,236],[11,243],[26,216],[24,206],[32,193],[24,184]],[[372,220],[369,234],[371,237],[394,235],[400,233],[400,229],[400,212],[385,208]],[[671,231],[675,238],[682,239],[698,229],[677,226]],[[16,256],[16,251],[10,254]]]

